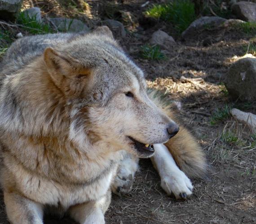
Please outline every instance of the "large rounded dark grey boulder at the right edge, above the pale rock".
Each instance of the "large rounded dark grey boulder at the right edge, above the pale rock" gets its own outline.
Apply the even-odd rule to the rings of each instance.
[[[235,62],[225,75],[224,83],[233,99],[256,100],[256,59]]]

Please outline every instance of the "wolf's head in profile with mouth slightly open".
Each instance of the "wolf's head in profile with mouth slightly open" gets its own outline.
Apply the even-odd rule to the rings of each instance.
[[[71,105],[69,138],[80,148],[101,145],[140,157],[145,144],[167,142],[179,128],[146,94],[143,72],[107,27],[44,51],[46,69]]]

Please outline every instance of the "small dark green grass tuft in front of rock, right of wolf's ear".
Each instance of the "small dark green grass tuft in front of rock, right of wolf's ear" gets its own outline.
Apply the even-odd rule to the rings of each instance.
[[[159,45],[145,44],[141,47],[141,57],[148,60],[165,60],[166,56],[161,52]]]

